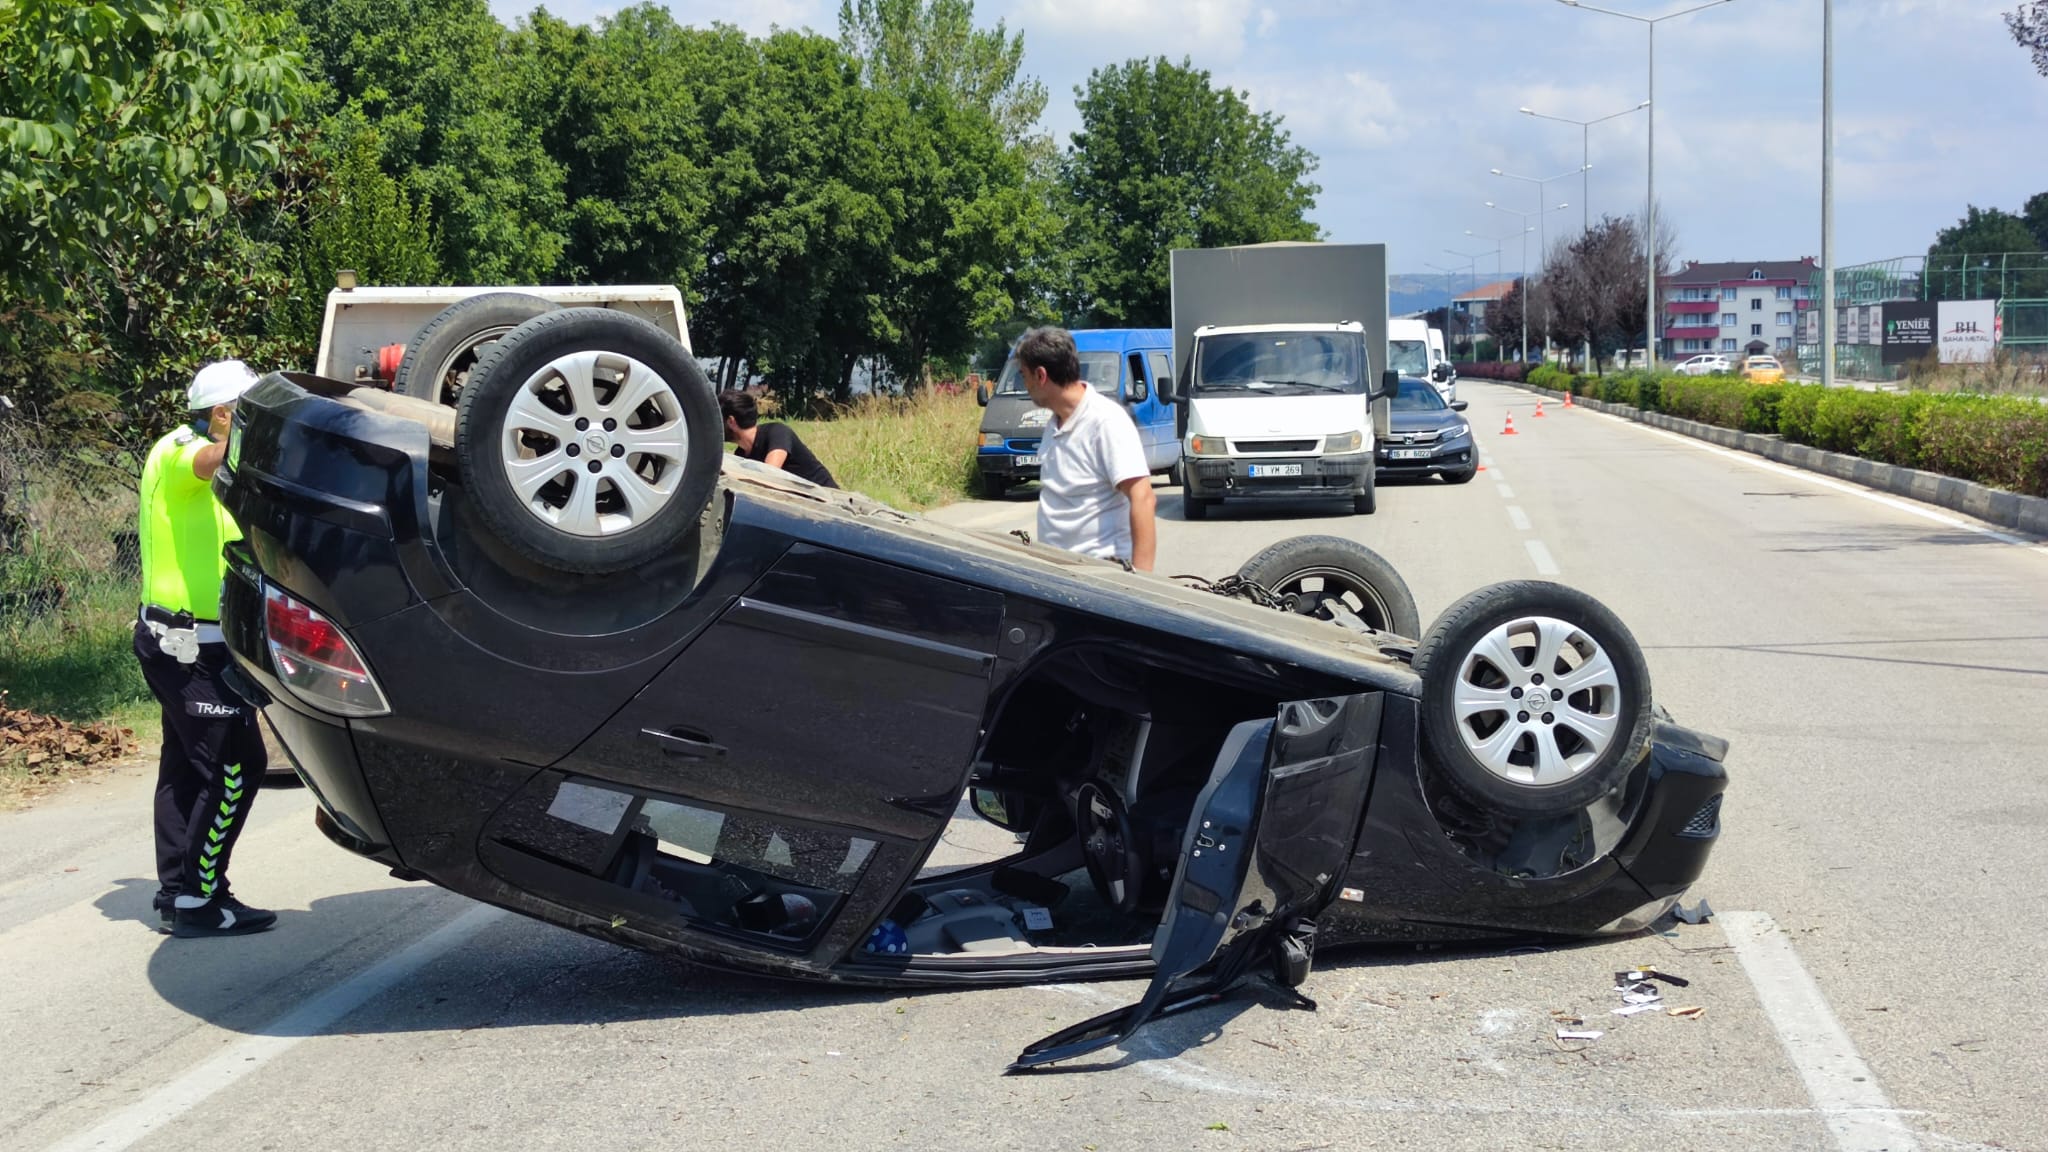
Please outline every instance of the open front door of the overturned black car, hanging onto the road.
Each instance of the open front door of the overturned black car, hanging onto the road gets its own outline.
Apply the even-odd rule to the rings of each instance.
[[[1210,1004],[1262,959],[1300,984],[1311,916],[1335,896],[1358,838],[1378,728],[1378,693],[1290,701],[1233,728],[1180,845],[1145,996],[1032,1043],[1010,1070],[1100,1052],[1151,1019]]]

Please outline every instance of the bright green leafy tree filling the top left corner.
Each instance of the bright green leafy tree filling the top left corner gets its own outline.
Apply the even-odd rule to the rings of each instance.
[[[55,303],[276,168],[307,86],[262,31],[231,2],[0,0],[0,289]]]

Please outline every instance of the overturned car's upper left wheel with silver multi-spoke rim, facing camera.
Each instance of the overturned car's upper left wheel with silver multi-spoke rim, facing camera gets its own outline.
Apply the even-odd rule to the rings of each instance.
[[[477,363],[455,459],[489,529],[537,564],[623,572],[678,547],[719,482],[719,406],[653,324],[567,307]]]

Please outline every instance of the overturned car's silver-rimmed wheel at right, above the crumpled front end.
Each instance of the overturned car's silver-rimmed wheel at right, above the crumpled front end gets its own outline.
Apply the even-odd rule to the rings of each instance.
[[[1651,674],[1628,627],[1563,584],[1516,580],[1452,605],[1415,648],[1421,732],[1446,781],[1507,816],[1614,791],[1651,738]]]

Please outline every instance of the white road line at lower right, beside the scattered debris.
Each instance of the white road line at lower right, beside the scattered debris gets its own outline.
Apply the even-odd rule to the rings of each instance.
[[[1757,988],[1757,1002],[1778,1031],[1786,1058],[1806,1082],[1806,1095],[1827,1119],[1841,1152],[1915,1152],[1915,1132],[1892,1109],[1878,1078],[1855,1054],[1855,1043],[1800,963],[1792,941],[1763,912],[1722,912],[1720,929],[1743,972]]]

